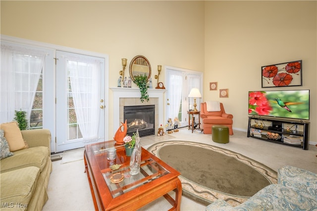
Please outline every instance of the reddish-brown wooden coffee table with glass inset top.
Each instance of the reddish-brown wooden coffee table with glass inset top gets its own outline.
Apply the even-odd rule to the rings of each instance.
[[[116,159],[113,161],[107,160],[107,149],[110,147],[116,148]],[[115,141],[106,141],[85,146],[85,169],[96,211],[137,210],[161,196],[173,206],[170,211],[180,210],[180,173],[144,148],[141,160],[140,172],[132,176],[130,157],[125,155],[123,145],[115,146]],[[113,164],[122,166],[111,170],[109,167]],[[122,173],[122,182],[115,184],[110,181],[115,173]],[[175,199],[168,195],[172,190],[175,191]]]

